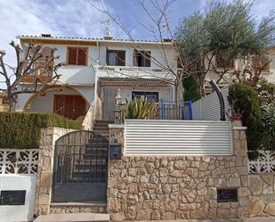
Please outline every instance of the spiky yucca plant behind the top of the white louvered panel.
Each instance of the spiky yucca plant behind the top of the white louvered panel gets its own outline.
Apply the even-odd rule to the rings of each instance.
[[[155,119],[158,115],[158,107],[153,101],[147,102],[144,99],[133,100],[130,103],[126,100],[124,119]]]

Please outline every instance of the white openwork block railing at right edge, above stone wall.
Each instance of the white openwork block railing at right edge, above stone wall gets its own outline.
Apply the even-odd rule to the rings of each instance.
[[[257,160],[248,160],[249,173],[275,173],[275,152],[259,151]]]

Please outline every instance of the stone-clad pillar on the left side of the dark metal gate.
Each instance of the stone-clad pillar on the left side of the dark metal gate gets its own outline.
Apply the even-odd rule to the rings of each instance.
[[[75,130],[60,127],[47,127],[41,129],[36,178],[36,215],[48,214],[50,212],[53,185],[54,144],[59,137],[71,131]]]

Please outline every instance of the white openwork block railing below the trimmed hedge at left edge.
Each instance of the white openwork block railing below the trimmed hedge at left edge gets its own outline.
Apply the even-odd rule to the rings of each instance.
[[[38,149],[0,149],[1,174],[36,174]]]

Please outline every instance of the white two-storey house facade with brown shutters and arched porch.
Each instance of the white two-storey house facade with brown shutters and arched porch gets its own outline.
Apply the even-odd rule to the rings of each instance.
[[[42,45],[43,57],[50,48],[55,48],[54,55],[59,57],[53,64],[63,65],[58,70],[60,78],[48,82],[36,94],[19,95],[16,111],[48,111],[69,119],[90,111],[93,119],[112,119],[118,88],[123,102],[142,95],[156,103],[175,100],[174,87],[169,82],[173,77],[160,65],[168,62],[177,69],[171,41],[49,35],[18,38],[23,53],[30,43]],[[50,77],[51,74],[41,78]],[[20,87],[28,87],[32,81],[31,75],[23,78]]]

